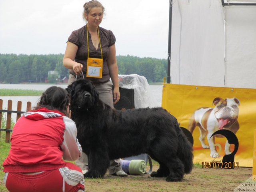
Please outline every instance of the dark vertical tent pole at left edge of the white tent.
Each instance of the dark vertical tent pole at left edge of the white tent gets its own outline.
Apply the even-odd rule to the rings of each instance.
[[[169,6],[169,37],[168,37],[168,66],[167,66],[167,83],[171,82],[170,70],[171,70],[171,41],[172,41],[172,0]]]

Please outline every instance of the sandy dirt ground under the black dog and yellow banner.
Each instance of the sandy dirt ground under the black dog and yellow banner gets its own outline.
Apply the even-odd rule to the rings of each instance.
[[[153,166],[153,170],[157,169],[158,166]],[[104,179],[86,179],[85,188],[87,192],[233,192],[243,191],[242,188],[237,187],[251,176],[252,168],[194,167],[181,182],[166,182],[165,178],[151,178],[149,174],[128,175],[124,178],[106,175]],[[250,191],[256,191],[254,184],[252,188],[254,190]],[[245,186],[244,189],[246,189]]]

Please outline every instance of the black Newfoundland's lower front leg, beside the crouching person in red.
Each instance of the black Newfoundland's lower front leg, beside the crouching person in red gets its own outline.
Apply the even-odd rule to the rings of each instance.
[[[84,178],[103,178],[109,165],[110,160],[105,148],[92,150],[88,155],[88,172]]]

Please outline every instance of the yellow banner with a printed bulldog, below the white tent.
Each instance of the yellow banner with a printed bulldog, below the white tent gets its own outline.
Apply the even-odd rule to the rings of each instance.
[[[232,133],[228,133],[231,136],[234,133],[239,147],[234,164],[226,166],[252,167],[256,89],[164,83],[162,107],[178,119],[181,127],[192,133],[194,163],[210,166],[211,162],[221,162],[226,154],[232,154],[234,144],[228,144],[227,138],[220,134],[212,136],[216,131],[230,130]]]

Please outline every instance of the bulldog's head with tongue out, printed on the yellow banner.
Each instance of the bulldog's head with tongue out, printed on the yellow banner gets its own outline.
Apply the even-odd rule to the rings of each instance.
[[[240,101],[237,98],[222,99],[217,97],[212,102],[214,114],[219,123],[219,129],[228,128],[238,118]]]

